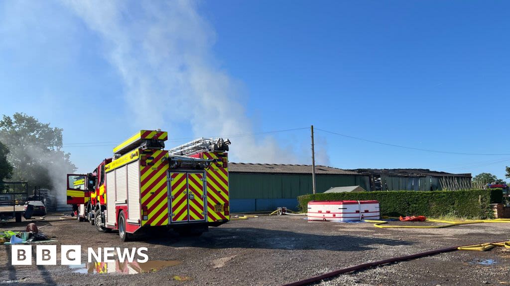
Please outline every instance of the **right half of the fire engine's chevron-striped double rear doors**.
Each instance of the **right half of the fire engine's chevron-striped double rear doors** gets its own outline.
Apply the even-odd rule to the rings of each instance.
[[[203,174],[188,173],[188,204],[189,220],[205,219],[205,209],[203,208]]]

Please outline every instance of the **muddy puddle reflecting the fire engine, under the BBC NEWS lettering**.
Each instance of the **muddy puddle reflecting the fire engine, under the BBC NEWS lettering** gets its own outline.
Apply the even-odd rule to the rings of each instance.
[[[127,274],[138,274],[138,273],[150,273],[156,272],[163,267],[176,266],[181,264],[177,260],[169,261],[148,261],[138,263],[133,261],[131,263],[125,262],[92,262],[83,263],[81,265],[69,265],[69,268],[74,273],[82,274],[113,274],[113,275],[127,275]]]

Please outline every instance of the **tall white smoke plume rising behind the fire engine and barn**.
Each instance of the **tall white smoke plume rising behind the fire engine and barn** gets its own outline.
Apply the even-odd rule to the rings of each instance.
[[[120,1],[63,5],[103,41],[106,58],[122,77],[135,127],[189,125],[196,136],[253,132],[240,85],[215,62],[215,32],[195,2],[132,2],[129,9]],[[231,150],[232,161],[310,163],[310,152],[270,136],[236,137]]]

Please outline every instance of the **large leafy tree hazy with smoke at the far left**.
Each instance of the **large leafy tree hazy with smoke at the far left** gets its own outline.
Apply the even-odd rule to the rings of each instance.
[[[27,181],[29,187],[57,188],[65,192],[66,173],[76,166],[69,153],[62,151],[62,129],[50,127],[24,113],[4,115],[0,121],[0,140],[9,148],[12,179]]]

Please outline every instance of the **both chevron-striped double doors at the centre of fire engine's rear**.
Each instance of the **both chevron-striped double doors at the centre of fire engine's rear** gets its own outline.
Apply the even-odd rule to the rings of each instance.
[[[170,172],[171,222],[205,220],[203,173]]]

